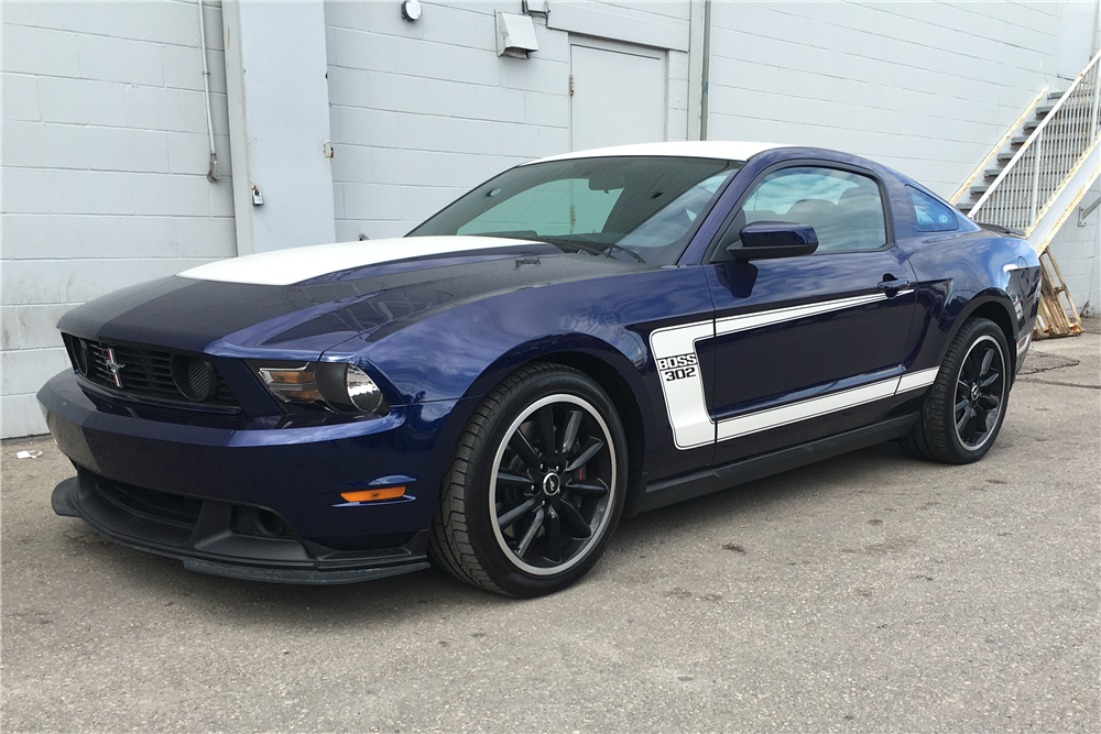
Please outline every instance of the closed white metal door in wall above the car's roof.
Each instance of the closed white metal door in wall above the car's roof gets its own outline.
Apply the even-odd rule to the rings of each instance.
[[[658,54],[570,45],[570,150],[665,140],[665,59]]]

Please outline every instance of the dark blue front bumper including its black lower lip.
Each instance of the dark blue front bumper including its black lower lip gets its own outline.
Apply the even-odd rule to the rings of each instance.
[[[183,414],[86,392],[72,373],[48,381],[39,401],[54,440],[78,469],[54,492],[58,514],[194,570],[298,583],[424,567],[424,532],[470,403],[396,406],[385,418],[315,427],[246,416],[185,421]],[[371,503],[341,497],[386,484],[404,485],[405,495]],[[119,502],[111,495],[119,487],[201,507],[194,505],[182,526],[171,513],[166,519]],[[287,537],[242,537],[233,526],[240,507],[279,517]]]

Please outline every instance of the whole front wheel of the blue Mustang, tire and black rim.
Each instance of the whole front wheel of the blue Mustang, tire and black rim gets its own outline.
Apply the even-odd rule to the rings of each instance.
[[[429,552],[453,576],[512,596],[581,578],[619,524],[626,439],[585,374],[535,363],[475,409],[440,490]]]

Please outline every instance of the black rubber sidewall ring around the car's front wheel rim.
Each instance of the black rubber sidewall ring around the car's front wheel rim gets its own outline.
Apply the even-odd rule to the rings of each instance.
[[[611,506],[607,511],[610,517],[604,525],[603,536],[588,548],[586,557],[560,573],[536,576],[514,566],[498,544],[492,527],[497,513],[489,506],[489,485],[497,451],[508,439],[513,421],[536,401],[555,394],[574,395],[585,399],[604,419],[615,451],[615,487]],[[478,560],[490,572],[494,582],[510,594],[535,596],[564,589],[585,576],[600,559],[619,524],[628,486],[626,436],[619,414],[608,395],[587,377],[567,368],[539,375],[502,397],[500,405],[491,414],[489,429],[479,436],[473,450],[471,471],[464,486],[464,500],[468,511],[467,532]]]

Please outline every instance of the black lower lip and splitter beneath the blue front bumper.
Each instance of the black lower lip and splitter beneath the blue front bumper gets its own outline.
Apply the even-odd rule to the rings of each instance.
[[[270,513],[265,508],[120,486],[86,469],[58,484],[51,504],[58,515],[79,517],[119,545],[235,579],[334,584],[428,568],[426,530],[397,548],[339,551],[292,533],[269,532],[265,537],[255,523],[252,533],[240,532],[240,514]]]

